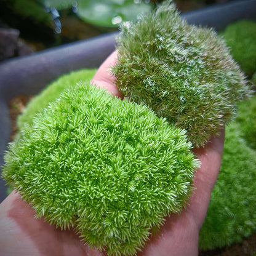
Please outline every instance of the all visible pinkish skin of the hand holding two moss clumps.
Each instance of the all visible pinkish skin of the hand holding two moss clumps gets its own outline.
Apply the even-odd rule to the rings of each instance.
[[[100,66],[92,83],[122,98],[109,71],[114,62],[116,52]],[[195,190],[188,206],[181,214],[166,217],[165,224],[157,234],[151,236],[138,256],[198,255],[199,230],[206,217],[210,194],[220,170],[224,137],[225,130],[222,129],[220,135],[213,137],[204,148],[194,149],[201,160],[201,167],[196,170]],[[0,204],[0,255],[105,255],[82,243],[73,230],[50,226],[43,218],[34,218],[34,214],[31,206],[22,201],[15,191]]]

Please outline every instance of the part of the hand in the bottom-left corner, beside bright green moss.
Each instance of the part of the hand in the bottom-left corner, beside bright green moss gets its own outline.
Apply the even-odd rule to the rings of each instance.
[[[14,191],[1,203],[0,255],[105,255],[81,242],[72,229],[61,230],[34,215]]]

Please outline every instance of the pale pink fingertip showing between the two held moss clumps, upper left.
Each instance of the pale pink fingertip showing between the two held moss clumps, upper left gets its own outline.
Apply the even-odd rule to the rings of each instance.
[[[107,89],[108,92],[113,94],[113,96],[117,96],[119,98],[123,98],[122,94],[119,92],[116,84],[114,82],[114,76],[111,74],[110,68],[117,62],[118,54],[114,51],[108,58],[106,58],[105,62],[102,63],[100,68],[98,68],[94,78],[92,79],[92,84],[97,87]]]

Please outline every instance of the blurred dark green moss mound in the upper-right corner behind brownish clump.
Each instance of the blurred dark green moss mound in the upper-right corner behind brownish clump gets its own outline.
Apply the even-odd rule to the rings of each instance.
[[[256,22],[241,20],[222,33],[231,54],[247,76],[256,71]]]

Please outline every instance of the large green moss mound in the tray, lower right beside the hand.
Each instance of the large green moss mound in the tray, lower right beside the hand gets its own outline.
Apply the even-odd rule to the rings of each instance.
[[[226,127],[222,167],[200,231],[201,249],[240,242],[256,231],[256,152],[239,128],[237,122]]]

